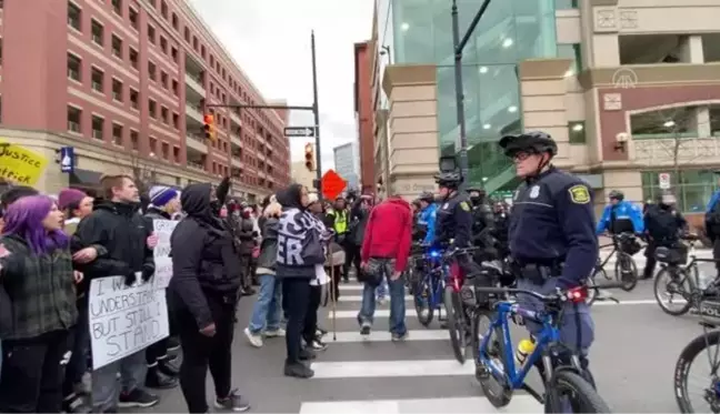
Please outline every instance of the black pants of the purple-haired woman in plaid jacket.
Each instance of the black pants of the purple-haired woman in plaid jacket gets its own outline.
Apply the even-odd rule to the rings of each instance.
[[[53,331],[28,340],[2,341],[0,412],[58,414],[72,331]]]

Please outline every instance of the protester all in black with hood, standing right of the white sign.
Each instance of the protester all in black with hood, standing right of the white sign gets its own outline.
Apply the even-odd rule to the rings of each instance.
[[[208,412],[208,367],[216,407],[250,410],[231,388],[234,313],[242,275],[232,235],[214,213],[209,183],[190,184],[182,191],[187,216],[170,238],[173,276],[169,294],[183,353],[180,387],[190,414]]]

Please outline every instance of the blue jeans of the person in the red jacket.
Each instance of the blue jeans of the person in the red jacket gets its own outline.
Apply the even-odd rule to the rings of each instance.
[[[376,259],[370,259],[371,261]],[[388,283],[388,291],[390,292],[390,332],[397,335],[404,335],[408,330],[404,323],[404,281],[403,276],[398,277],[398,280],[390,280],[392,272],[394,271],[394,261],[387,259],[379,259],[380,261],[387,261],[379,269],[384,273],[384,277]],[[360,325],[364,323],[372,324],[373,314],[376,310],[376,289],[370,286],[368,283],[364,283],[362,289],[362,307],[360,313],[358,313],[358,323]]]

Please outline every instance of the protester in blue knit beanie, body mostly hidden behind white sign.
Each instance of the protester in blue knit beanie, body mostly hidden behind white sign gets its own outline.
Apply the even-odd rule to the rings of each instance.
[[[144,214],[147,229],[153,230],[156,220],[172,220],[172,214],[180,210],[178,191],[170,186],[156,185],[151,188],[149,198],[150,204]],[[168,313],[172,313],[171,306],[168,306]],[[176,357],[171,357],[168,353],[179,347],[179,344],[172,340],[176,331],[172,316],[170,316],[171,336],[156,342],[146,350],[148,373],[144,385],[149,388],[168,390],[179,385],[177,376],[180,368],[174,363]]]

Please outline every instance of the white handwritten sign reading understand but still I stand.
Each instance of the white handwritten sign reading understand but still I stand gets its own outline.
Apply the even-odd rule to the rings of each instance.
[[[166,291],[152,281],[128,287],[123,276],[93,279],[89,305],[93,370],[170,334]]]

